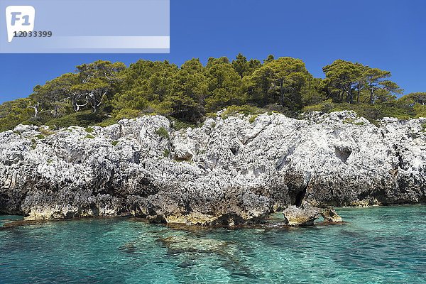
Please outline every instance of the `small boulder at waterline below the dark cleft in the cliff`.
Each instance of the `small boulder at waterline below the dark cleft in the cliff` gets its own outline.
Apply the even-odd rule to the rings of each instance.
[[[291,205],[284,209],[284,222],[289,226],[312,226],[320,218],[321,210],[317,207]]]

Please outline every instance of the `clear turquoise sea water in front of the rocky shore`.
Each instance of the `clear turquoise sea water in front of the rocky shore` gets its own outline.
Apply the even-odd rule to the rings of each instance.
[[[285,228],[278,214],[239,229],[134,218],[3,226],[0,283],[426,283],[425,206],[337,211],[346,224]]]

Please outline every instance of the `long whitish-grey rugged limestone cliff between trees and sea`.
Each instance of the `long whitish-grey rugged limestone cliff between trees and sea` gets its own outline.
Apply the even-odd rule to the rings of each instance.
[[[426,201],[426,119],[351,111],[0,133],[0,213],[26,219],[133,214],[156,222],[263,222],[289,204]]]

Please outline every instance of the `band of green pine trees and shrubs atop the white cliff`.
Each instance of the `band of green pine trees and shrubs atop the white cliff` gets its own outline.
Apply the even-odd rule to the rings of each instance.
[[[403,95],[391,72],[336,60],[315,78],[296,58],[248,60],[237,55],[192,58],[182,66],[168,61],[98,60],[37,85],[25,99],[0,105],[0,131],[18,124],[53,128],[107,126],[120,119],[161,114],[180,129],[198,126],[216,112],[222,116],[277,111],[297,118],[306,111],[354,110],[375,122],[385,116],[426,116],[426,92]]]

